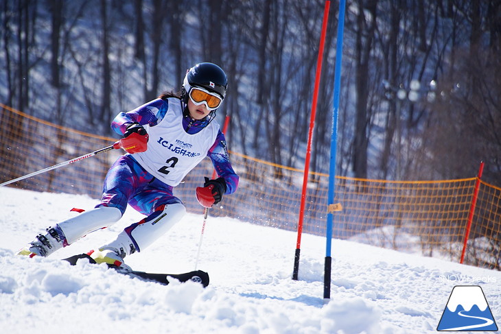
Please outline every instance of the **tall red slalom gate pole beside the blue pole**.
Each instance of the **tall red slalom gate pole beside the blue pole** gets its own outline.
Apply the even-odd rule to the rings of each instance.
[[[322,74],[322,60],[323,60],[323,49],[325,45],[325,32],[327,31],[327,22],[329,21],[329,7],[331,1],[325,1],[325,6],[323,10],[323,22],[322,22],[322,32],[320,36],[320,46],[318,47],[318,58],[316,60],[316,76],[315,76],[315,86],[313,91],[312,100],[312,114],[310,115],[310,130],[308,131],[308,142],[306,147],[306,157],[305,157],[305,171],[303,176],[303,190],[301,191],[301,205],[299,207],[299,221],[297,224],[297,241],[296,241],[296,253],[294,254],[294,270],[292,272],[292,279],[297,281],[299,273],[299,255],[301,253],[301,235],[303,233],[303,217],[305,214],[305,203],[306,203],[306,191],[308,184],[308,174],[310,173],[310,156],[312,154],[312,138],[313,129],[315,126],[316,117],[316,104],[318,101],[318,86],[320,86],[320,79]]]

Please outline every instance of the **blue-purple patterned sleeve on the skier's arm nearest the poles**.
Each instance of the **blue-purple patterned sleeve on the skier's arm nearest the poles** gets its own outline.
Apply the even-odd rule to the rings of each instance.
[[[226,150],[226,140],[221,131],[218,132],[214,145],[210,148],[207,156],[211,158],[218,176],[226,181],[226,194],[234,193],[238,187],[239,177],[231,167],[228,151]]]

